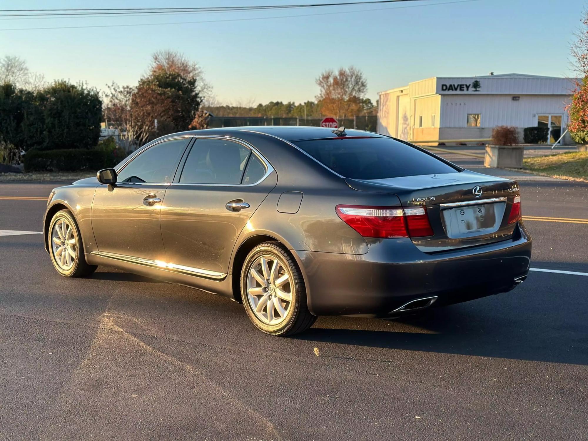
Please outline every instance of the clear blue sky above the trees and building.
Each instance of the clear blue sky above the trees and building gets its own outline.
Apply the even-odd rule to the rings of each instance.
[[[323,2],[334,2],[325,0]],[[0,29],[229,20],[119,28],[0,31],[0,56],[18,55],[46,79],[135,85],[158,49],[197,61],[220,102],[314,99],[325,69],[355,65],[368,97],[430,76],[518,72],[573,76],[569,43],[584,0],[452,0],[295,11],[151,17],[0,19]],[[303,4],[311,0],[0,0],[0,9]],[[439,4],[439,5],[434,5]],[[406,6],[417,6],[409,7]],[[396,9],[397,8],[397,9]],[[379,9],[375,11],[374,9]],[[4,13],[2,13],[4,14]]]

